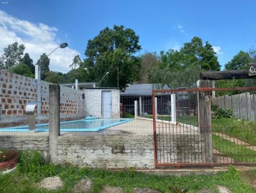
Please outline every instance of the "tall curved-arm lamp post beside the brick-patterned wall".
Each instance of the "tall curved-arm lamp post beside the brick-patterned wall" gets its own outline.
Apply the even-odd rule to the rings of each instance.
[[[42,61],[44,61],[48,56],[50,56],[52,54],[52,52],[54,52],[58,48],[63,49],[67,46],[68,46],[67,42],[61,43],[61,45],[56,47],[56,49],[52,50],[50,52],[50,54],[45,56],[45,58],[40,59],[40,61],[38,62],[38,65],[35,65],[35,79],[37,79],[37,85],[38,85],[38,88],[37,88],[37,114],[38,114],[38,116],[40,116],[40,114],[41,114],[41,64],[42,64]]]

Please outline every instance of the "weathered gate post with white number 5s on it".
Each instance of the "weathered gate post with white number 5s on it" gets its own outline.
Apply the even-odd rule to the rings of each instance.
[[[199,80],[199,88],[209,88],[209,80]],[[204,136],[205,144],[205,162],[212,163],[212,130],[211,130],[211,92],[200,91],[198,93],[198,115],[199,115],[199,130]]]

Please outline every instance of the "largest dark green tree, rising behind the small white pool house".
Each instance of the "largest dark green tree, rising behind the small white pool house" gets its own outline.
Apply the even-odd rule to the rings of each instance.
[[[106,27],[93,40],[88,41],[84,53],[87,57],[84,61],[84,68],[95,81],[100,81],[106,72],[109,72],[104,82],[100,83],[104,86],[115,87],[117,86],[118,68],[119,86],[124,89],[132,81],[134,68],[138,64],[138,59],[132,56],[141,49],[138,43],[139,36],[132,29],[124,26],[113,26],[113,29]]]

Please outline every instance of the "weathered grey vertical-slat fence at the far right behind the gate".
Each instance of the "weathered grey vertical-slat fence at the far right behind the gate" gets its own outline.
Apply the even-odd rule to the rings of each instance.
[[[237,119],[256,120],[256,95],[250,93],[223,95],[213,98],[212,102],[218,107],[232,110],[232,116]]]

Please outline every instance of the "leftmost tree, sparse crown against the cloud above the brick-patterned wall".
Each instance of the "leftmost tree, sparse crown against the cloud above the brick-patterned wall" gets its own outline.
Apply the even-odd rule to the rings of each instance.
[[[14,42],[4,48],[4,53],[0,57],[0,69],[9,70],[12,66],[18,65],[22,59],[25,47],[23,44]]]

